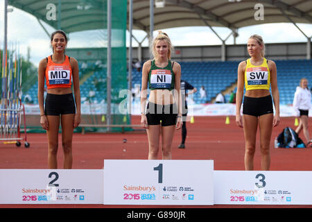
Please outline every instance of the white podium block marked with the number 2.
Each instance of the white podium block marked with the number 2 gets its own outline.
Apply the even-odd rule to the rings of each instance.
[[[102,204],[103,170],[0,169],[0,204]]]

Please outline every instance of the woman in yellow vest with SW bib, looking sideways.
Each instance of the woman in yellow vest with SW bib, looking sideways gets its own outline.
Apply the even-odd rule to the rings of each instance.
[[[261,170],[270,169],[270,138],[272,127],[279,124],[279,90],[275,62],[264,58],[264,42],[259,35],[248,39],[250,58],[239,64],[236,92],[236,124],[243,127],[245,135],[245,170],[254,169],[256,135],[259,125]],[[243,118],[241,104],[243,101]],[[275,105],[273,114],[272,97]]]

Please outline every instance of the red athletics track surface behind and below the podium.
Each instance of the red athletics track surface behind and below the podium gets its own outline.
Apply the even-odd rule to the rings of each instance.
[[[139,116],[132,116],[132,123],[139,124]],[[38,120],[39,121],[39,120]],[[294,117],[281,117],[279,126],[273,129],[271,139],[272,171],[312,171],[312,148],[274,148],[274,138],[283,128],[294,126]],[[186,148],[180,149],[181,131],[175,133],[173,139],[174,160],[214,160],[215,170],[243,171],[244,137],[243,128],[236,126],[235,117],[195,117],[194,123],[187,122],[188,137]],[[312,126],[309,128],[312,135]],[[254,157],[254,170],[260,170],[259,132]],[[301,134],[302,138],[303,135]],[[0,169],[47,169],[47,144],[45,133],[27,134],[30,148],[15,144],[0,144]],[[127,139],[123,143],[123,139]],[[73,135],[73,169],[102,169],[103,160],[146,160],[148,157],[148,139],[144,130],[132,133],[86,133]],[[160,157],[160,153],[159,153]],[[62,144],[59,137],[58,165],[62,169]],[[0,205],[1,207],[28,208],[310,208],[312,205],[213,205],[213,206],[171,206],[171,205]]]

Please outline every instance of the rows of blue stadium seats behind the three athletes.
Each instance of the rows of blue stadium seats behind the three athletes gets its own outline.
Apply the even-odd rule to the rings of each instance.
[[[275,60],[277,65],[277,84],[279,87],[280,103],[283,105],[292,104],[296,87],[299,85],[300,78],[307,78],[309,84],[312,83],[312,60]],[[182,79],[187,80],[191,85],[198,89],[194,94],[195,103],[207,103],[216,95],[236,83],[237,67],[239,61],[227,62],[180,62],[182,68]],[[82,98],[89,98],[89,92],[94,90],[93,101],[100,103],[106,95],[106,79],[103,78],[105,69],[98,69],[95,64],[88,63],[87,68],[80,69],[80,79],[87,72],[93,74],[83,81],[80,85]],[[105,76],[105,74],[104,74]],[[132,87],[141,85],[141,72],[132,69]],[[199,89],[204,86],[207,91],[207,98],[201,99]],[[235,89],[236,90],[236,89]],[[33,103],[37,103],[37,83],[23,94],[30,94]],[[229,94],[225,95],[226,101],[229,100]]]

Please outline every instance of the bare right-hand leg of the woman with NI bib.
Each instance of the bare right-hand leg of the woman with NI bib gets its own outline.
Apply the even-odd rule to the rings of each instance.
[[[175,133],[175,125],[162,126],[162,159],[171,160],[172,141]]]

